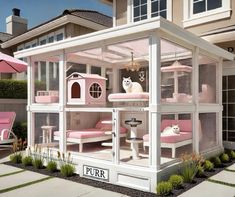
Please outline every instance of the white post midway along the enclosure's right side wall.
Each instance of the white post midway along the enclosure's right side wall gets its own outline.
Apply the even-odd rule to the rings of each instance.
[[[195,153],[199,153],[199,129],[201,129],[201,124],[199,123],[199,103],[198,103],[198,94],[199,94],[199,64],[198,64],[198,57],[199,57],[199,48],[195,47],[193,50],[193,76],[192,76],[192,95],[193,95],[193,102],[195,105],[195,110],[193,113],[193,151]]]

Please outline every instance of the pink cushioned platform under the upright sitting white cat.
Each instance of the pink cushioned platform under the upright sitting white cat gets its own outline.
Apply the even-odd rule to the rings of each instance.
[[[139,93],[115,93],[108,96],[109,100],[118,100],[118,99],[149,99],[148,92],[139,92]]]

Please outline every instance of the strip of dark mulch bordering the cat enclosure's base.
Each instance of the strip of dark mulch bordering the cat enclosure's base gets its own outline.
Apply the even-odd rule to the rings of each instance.
[[[205,172],[204,177],[195,177],[193,183],[184,183],[183,187],[181,189],[177,189],[177,190],[174,189],[172,191],[171,195],[169,195],[169,196],[175,197],[175,196],[182,194],[183,192],[186,192],[187,190],[195,187],[199,183],[205,181],[209,177],[219,173],[220,171],[224,170],[226,167],[228,167],[234,163],[235,163],[235,161],[232,161],[232,162],[223,164],[223,166],[220,168],[214,168],[214,170],[211,172]],[[73,182],[77,182],[77,183],[81,183],[81,184],[85,184],[85,185],[90,185],[93,187],[97,187],[97,188],[101,188],[101,189],[105,189],[105,190],[109,190],[109,191],[113,191],[113,192],[118,192],[118,193],[128,195],[128,196],[133,196],[133,197],[137,197],[137,196],[138,197],[145,197],[145,196],[146,197],[156,197],[156,196],[159,196],[159,195],[156,195],[156,194],[150,193],[150,192],[144,192],[144,191],[140,191],[140,190],[136,190],[136,189],[131,189],[128,187],[123,187],[123,186],[119,186],[119,185],[114,185],[114,184],[110,184],[110,183],[105,183],[105,182],[101,182],[101,181],[96,181],[96,180],[80,177],[78,174],[75,174],[71,177],[64,177],[61,175],[61,173],[59,171],[54,172],[54,173],[50,173],[45,168],[44,169],[35,169],[33,166],[24,167],[22,164],[14,164],[10,161],[5,162],[5,164],[11,165],[14,167],[18,167],[18,168],[22,168],[22,169],[26,169],[29,171],[33,171],[33,172],[38,172],[38,173],[45,174],[48,176],[63,178],[63,179],[70,180]]]

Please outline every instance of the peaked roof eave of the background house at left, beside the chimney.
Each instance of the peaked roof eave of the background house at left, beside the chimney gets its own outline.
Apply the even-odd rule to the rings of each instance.
[[[25,32],[24,34],[21,34],[19,36],[11,38],[10,40],[2,43],[1,47],[8,48],[8,47],[14,46],[18,43],[33,39],[36,36],[39,36],[43,33],[46,33],[50,30],[53,30],[55,28],[58,28],[62,25],[68,24],[68,23],[78,24],[78,25],[81,25],[84,27],[88,27],[88,28],[97,30],[97,31],[107,28],[107,26],[105,26],[105,25],[93,22],[91,20],[88,20],[88,19],[85,19],[85,18],[82,18],[79,16],[74,16],[72,14],[70,14],[70,15],[63,14],[63,15],[60,15],[56,18],[53,18],[49,22],[43,23],[41,25],[38,25],[38,26],[30,29],[29,31]]]

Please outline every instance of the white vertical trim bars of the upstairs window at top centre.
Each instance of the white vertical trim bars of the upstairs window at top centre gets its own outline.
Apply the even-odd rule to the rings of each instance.
[[[133,0],[127,0],[127,23],[134,23],[133,16]],[[167,0],[167,15],[166,19],[172,21],[172,0]],[[151,17],[151,0],[147,0],[147,19]],[[145,19],[146,20],[146,19]]]

